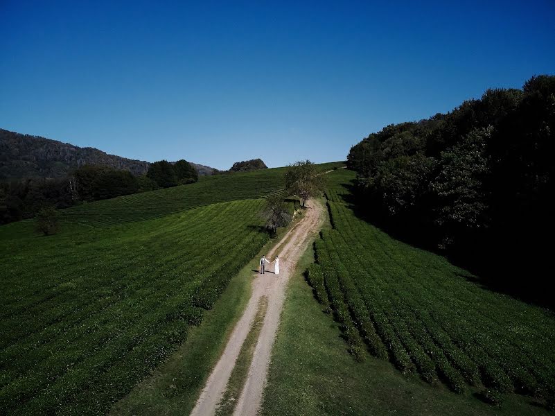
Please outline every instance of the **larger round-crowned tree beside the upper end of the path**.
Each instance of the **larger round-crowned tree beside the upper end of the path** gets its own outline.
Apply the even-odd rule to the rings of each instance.
[[[295,162],[288,166],[285,172],[285,187],[291,195],[298,196],[303,202],[317,196],[323,189],[320,172],[310,160]]]

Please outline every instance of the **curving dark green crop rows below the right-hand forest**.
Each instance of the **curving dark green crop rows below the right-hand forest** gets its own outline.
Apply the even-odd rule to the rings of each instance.
[[[455,392],[474,386],[499,401],[555,397],[553,313],[480,287],[465,270],[391,239],[346,203],[350,171],[328,175],[333,229],[315,244],[308,280],[342,324],[349,350]]]

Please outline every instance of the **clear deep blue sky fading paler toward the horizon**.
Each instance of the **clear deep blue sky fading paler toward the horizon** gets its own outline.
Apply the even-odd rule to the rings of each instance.
[[[0,128],[216,168],[341,160],[555,73],[555,1],[0,0]]]

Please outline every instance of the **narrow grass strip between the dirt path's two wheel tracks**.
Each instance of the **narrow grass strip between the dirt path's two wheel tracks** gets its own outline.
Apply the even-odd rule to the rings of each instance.
[[[234,369],[231,372],[231,376],[229,376],[224,395],[218,404],[216,416],[226,416],[234,413],[235,406],[245,386],[247,375],[249,374],[249,367],[252,363],[252,356],[258,341],[258,336],[262,330],[267,306],[267,296],[261,297],[258,302],[258,309],[256,310],[254,321],[252,322],[252,327],[247,334],[247,338],[245,338],[245,342],[241,346]]]

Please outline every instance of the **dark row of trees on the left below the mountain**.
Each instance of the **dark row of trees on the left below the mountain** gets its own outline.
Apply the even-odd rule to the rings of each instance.
[[[196,169],[185,160],[152,163],[146,175],[139,177],[129,171],[85,165],[58,179],[4,180],[0,182],[0,224],[31,218],[46,207],[64,209],[197,180]]]

